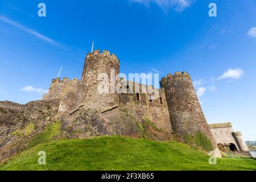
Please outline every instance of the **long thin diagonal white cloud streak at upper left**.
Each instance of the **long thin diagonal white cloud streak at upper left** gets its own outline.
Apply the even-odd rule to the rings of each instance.
[[[27,28],[27,27],[23,26],[22,24],[19,24],[18,22],[15,22],[14,20],[11,20],[11,19],[7,18],[6,16],[0,15],[0,20],[2,22],[10,24],[11,26],[19,28],[20,30],[25,31],[28,34],[34,35],[37,38],[39,38],[41,40],[44,40],[44,41],[46,41],[46,42],[48,42],[48,43],[50,43],[50,44],[52,44],[54,46],[62,47],[59,43],[55,42],[55,40],[52,40],[52,39],[48,38],[47,36],[39,34],[38,32],[36,32],[34,30],[31,30],[30,28]]]

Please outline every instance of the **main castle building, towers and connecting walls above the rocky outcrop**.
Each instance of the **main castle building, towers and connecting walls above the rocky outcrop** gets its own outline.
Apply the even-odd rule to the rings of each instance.
[[[105,86],[109,91],[115,90],[119,73],[119,60],[109,51],[97,50],[86,55],[81,80],[60,78],[52,80],[49,92],[43,100],[59,99],[59,111],[72,111],[79,107],[104,109],[112,106],[125,106],[133,109],[138,119],[150,118],[156,126],[168,129],[184,138],[197,131],[205,134],[212,142],[214,150],[220,156],[217,144],[204,117],[195,89],[188,73],[169,74],[160,81],[159,98],[152,101],[148,94],[142,93],[100,93],[99,83],[104,80],[104,73],[109,80]],[[112,85],[113,84],[113,85]],[[133,83],[135,84],[135,83]],[[138,83],[137,83],[138,84]],[[127,87],[128,89],[128,87]]]

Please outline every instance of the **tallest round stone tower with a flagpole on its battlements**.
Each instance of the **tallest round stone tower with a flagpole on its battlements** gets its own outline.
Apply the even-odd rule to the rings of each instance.
[[[84,88],[84,105],[88,108],[102,109],[118,105],[119,96],[115,92],[118,83],[119,60],[109,51],[100,50],[86,55],[81,84]]]

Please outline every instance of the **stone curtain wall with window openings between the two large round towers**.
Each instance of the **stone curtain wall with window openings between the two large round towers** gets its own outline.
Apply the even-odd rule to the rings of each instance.
[[[140,93],[135,93],[135,84],[139,85]],[[141,84],[129,82],[128,85],[127,90],[133,89],[133,92],[119,94],[120,104],[132,111],[138,121],[148,118],[160,129],[172,131],[164,90],[159,89],[158,98],[150,100],[150,94],[141,93]],[[146,86],[146,88],[148,87]]]

